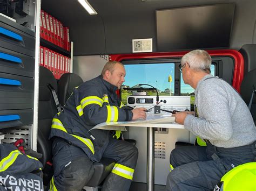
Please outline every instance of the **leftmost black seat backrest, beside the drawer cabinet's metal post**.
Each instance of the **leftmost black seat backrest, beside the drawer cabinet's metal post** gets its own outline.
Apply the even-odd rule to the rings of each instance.
[[[48,138],[51,131],[52,118],[58,112],[48,84],[51,84],[57,93],[55,77],[49,69],[40,66],[37,151],[43,154],[41,159],[43,165],[52,159],[52,142]]]

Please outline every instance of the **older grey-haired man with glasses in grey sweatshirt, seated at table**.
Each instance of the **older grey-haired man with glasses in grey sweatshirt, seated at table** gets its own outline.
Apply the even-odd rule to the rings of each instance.
[[[256,128],[246,103],[230,84],[210,75],[211,56],[194,50],[183,56],[183,80],[195,89],[195,112],[174,114],[207,146],[171,152],[167,190],[212,190],[235,166],[255,158]]]

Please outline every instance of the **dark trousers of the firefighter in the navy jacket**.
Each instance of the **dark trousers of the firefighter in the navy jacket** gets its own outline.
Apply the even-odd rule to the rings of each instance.
[[[116,165],[105,179],[102,190],[129,190],[138,149],[128,142],[110,137],[103,157],[116,160]],[[94,173],[93,162],[84,151],[62,138],[53,141],[53,168],[51,183],[57,190],[65,191],[82,190]]]

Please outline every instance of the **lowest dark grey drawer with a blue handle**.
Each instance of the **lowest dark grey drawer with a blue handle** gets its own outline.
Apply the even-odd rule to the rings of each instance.
[[[14,126],[31,125],[33,123],[33,110],[0,110],[0,129]]]

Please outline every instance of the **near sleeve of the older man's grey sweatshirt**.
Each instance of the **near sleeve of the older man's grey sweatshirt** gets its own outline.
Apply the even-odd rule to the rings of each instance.
[[[233,130],[228,93],[218,83],[203,82],[199,88],[196,98],[199,117],[188,115],[184,121],[185,128],[204,139],[230,139]]]

